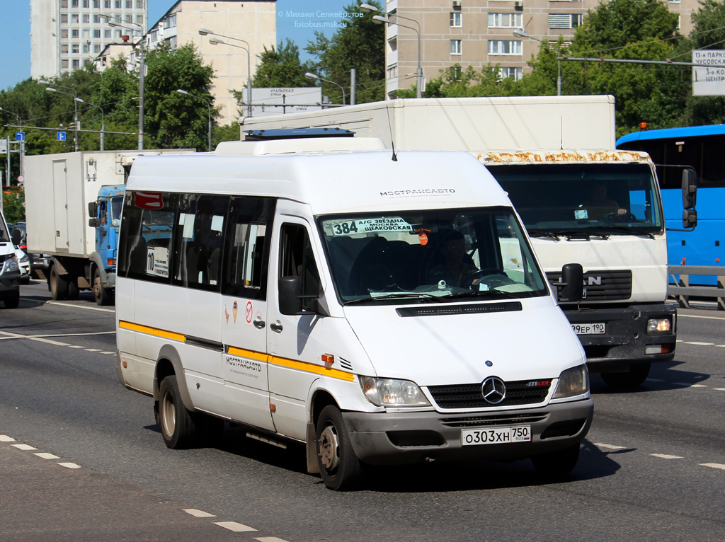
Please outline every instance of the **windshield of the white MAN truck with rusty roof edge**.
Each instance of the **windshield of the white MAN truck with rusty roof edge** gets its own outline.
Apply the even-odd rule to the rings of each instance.
[[[531,235],[662,231],[648,164],[505,164],[488,170]]]

